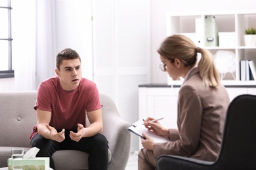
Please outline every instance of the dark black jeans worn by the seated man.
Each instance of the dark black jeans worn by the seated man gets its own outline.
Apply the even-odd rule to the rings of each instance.
[[[65,140],[58,143],[37,134],[31,141],[32,147],[39,148],[37,157],[49,157],[50,167],[55,169],[52,155],[57,150],[80,150],[89,154],[89,169],[108,169],[108,141],[102,134],[83,137],[79,142],[70,139],[70,130],[65,130]]]

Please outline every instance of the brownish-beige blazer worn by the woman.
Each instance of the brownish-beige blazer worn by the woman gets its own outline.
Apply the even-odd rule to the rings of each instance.
[[[204,86],[198,68],[194,67],[179,91],[178,129],[169,129],[170,142],[154,145],[154,157],[172,154],[215,161],[229,103],[224,86]]]

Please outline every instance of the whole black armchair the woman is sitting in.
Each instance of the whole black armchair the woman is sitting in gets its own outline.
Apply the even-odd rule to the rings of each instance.
[[[157,169],[256,169],[256,95],[239,95],[229,105],[217,161],[163,155]]]

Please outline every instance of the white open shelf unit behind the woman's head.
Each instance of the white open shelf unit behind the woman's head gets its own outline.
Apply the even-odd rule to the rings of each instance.
[[[215,16],[219,32],[234,33],[233,46],[205,46],[205,16]],[[256,63],[256,46],[244,45],[244,34],[247,27],[256,27],[256,10],[229,12],[168,12],[167,36],[182,34],[190,37],[196,45],[209,50],[213,56],[218,50],[228,50],[235,54],[234,78],[229,73],[223,78],[223,84],[255,85],[255,80],[240,80],[240,60],[251,59]],[[170,80],[168,80],[170,82]],[[182,82],[180,82],[182,83]],[[175,84],[179,84],[175,82]]]

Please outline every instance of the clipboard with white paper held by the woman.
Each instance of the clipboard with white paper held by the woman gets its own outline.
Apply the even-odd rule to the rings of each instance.
[[[146,135],[152,137],[152,139],[155,141],[155,143],[166,143],[169,141],[169,137],[162,137],[159,135],[156,135],[154,131],[148,131],[146,127],[143,125],[145,118],[138,120],[131,126],[127,127],[128,131],[131,131],[131,133],[134,133],[135,135],[138,135],[139,137],[146,139],[144,136],[142,136],[142,133],[145,133]]]

